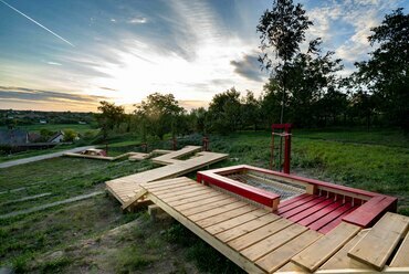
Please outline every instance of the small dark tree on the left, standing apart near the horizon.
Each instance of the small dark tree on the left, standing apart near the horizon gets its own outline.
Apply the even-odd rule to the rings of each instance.
[[[101,127],[103,139],[106,140],[109,130],[113,130],[115,126],[118,126],[125,118],[125,109],[122,106],[115,106],[114,103],[106,101],[99,102],[98,110],[96,114],[96,120]]]

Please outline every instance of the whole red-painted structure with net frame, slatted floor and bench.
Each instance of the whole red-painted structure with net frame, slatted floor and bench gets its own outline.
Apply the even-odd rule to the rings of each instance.
[[[280,202],[280,196],[276,193],[227,177],[247,172],[265,176],[283,183],[298,185],[305,188],[305,193]],[[387,211],[397,210],[397,198],[394,197],[248,165],[199,171],[197,180],[270,208],[280,202],[274,213],[321,233],[327,233],[342,221],[368,228]]]

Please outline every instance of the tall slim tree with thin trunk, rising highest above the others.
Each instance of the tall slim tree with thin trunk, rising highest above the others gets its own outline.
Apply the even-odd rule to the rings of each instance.
[[[294,6],[293,0],[274,0],[272,10],[264,11],[256,27],[261,39],[260,49],[263,52],[259,57],[262,65],[266,70],[273,66],[273,59],[268,52],[273,49],[275,57],[283,62],[274,67],[273,73],[286,71],[287,63],[300,52],[300,43],[305,40],[305,31],[312,24],[302,4]],[[284,118],[286,78],[285,73],[276,77],[282,93],[280,123],[283,123]]]

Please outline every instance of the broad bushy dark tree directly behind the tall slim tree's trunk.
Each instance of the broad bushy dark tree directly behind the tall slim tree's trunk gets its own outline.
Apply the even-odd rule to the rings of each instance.
[[[280,81],[277,78],[286,75],[292,81],[287,83],[289,92],[285,102],[287,109],[287,120],[297,126],[311,126],[321,116],[326,116],[326,105],[323,103],[335,103],[334,99],[342,101],[342,96],[333,96],[328,101],[327,93],[338,94],[340,78],[336,72],[343,68],[340,60],[334,60],[334,52],[321,54],[321,40],[310,42],[306,53],[297,53],[285,68],[279,70],[276,76],[270,78],[270,83],[264,86],[264,112],[277,113],[280,108]],[[323,101],[323,98],[326,98]],[[340,102],[338,102],[342,104]],[[332,113],[334,114],[334,113]],[[276,116],[277,117],[277,116]],[[271,120],[277,123],[277,119]]]

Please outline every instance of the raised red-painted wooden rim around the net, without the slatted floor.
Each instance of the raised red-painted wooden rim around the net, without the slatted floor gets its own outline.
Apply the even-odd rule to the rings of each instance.
[[[335,225],[337,222],[345,221],[363,228],[368,228],[385,212],[396,212],[397,210],[398,199],[395,197],[388,197],[366,190],[303,178],[294,175],[286,175],[248,165],[199,171],[197,173],[197,180],[201,183],[214,185],[235,194],[245,197],[250,200],[273,208],[272,204],[275,204],[280,201],[280,196],[224,177],[226,175],[245,173],[248,171],[265,173],[275,177],[279,180],[281,179],[283,181],[303,185],[308,191],[312,191],[310,192],[310,194],[317,194],[318,192],[323,194],[324,192],[324,194],[329,197],[343,197],[344,201],[350,204],[353,210],[337,217],[337,219],[334,220],[333,225]],[[296,202],[296,200],[298,200],[298,198],[293,198],[292,200],[285,201],[280,204],[280,207],[287,207],[287,203]],[[329,228],[325,229],[325,231],[327,230],[329,230]]]

